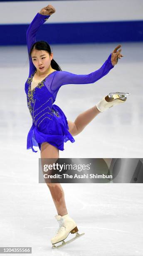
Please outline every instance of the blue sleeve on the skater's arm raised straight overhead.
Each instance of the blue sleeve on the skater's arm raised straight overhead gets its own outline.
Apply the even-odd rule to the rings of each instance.
[[[26,39],[27,39],[27,48],[28,54],[30,53],[30,49],[34,43],[36,43],[36,33],[40,26],[50,17],[50,15],[42,15],[37,13],[35,18],[32,20],[30,26],[27,29]],[[29,56],[29,76],[36,70],[34,64],[32,63],[32,58]]]

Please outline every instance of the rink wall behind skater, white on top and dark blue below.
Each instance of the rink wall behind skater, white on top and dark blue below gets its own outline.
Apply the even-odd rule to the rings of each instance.
[[[142,0],[0,1],[0,45],[25,45],[35,15],[51,4],[37,33],[49,44],[143,41]],[[88,7],[88,8],[87,8]]]

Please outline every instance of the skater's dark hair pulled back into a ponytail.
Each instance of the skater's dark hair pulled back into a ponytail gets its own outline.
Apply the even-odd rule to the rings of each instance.
[[[44,51],[47,51],[49,54],[51,54],[51,48],[46,41],[37,41],[35,44],[33,44],[30,49],[29,57],[31,56],[33,49],[44,50]],[[51,61],[51,67],[52,67],[52,69],[62,71],[62,69],[60,68],[60,66],[57,64],[57,62],[54,59],[52,59],[52,61]]]

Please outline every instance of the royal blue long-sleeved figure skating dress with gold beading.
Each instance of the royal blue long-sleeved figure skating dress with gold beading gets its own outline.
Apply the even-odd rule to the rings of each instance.
[[[32,23],[27,29],[27,47],[28,54],[32,45],[36,42],[36,33],[39,27],[50,17],[50,15],[42,15],[37,13]],[[67,118],[61,108],[54,104],[59,88],[64,84],[91,84],[104,77],[114,66],[111,63],[111,54],[104,62],[102,67],[90,74],[72,74],[67,71],[56,70],[37,87],[31,90],[32,78],[36,72],[36,68],[32,63],[31,56],[29,77],[25,83],[25,92],[27,95],[27,106],[32,117],[32,127],[27,135],[27,149],[35,149],[38,146],[41,149],[41,143],[48,142],[64,150],[64,142],[75,141],[72,134],[69,133]]]

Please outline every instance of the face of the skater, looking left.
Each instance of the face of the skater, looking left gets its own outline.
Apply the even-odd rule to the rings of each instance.
[[[47,69],[49,69],[51,65],[53,53],[49,54],[47,51],[34,49],[32,51],[31,57],[36,69],[40,73],[44,73]]]

